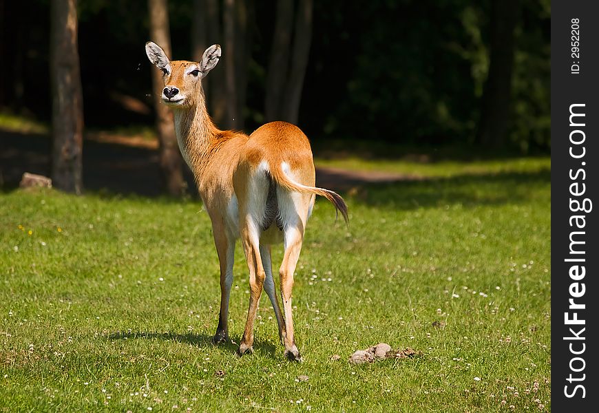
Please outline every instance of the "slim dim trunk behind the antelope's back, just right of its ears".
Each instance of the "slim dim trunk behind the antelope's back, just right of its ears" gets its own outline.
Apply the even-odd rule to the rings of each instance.
[[[239,1],[239,0],[238,0]],[[237,81],[235,81],[235,55],[238,53],[235,43],[235,0],[224,0],[224,77],[227,91],[227,118],[225,125],[228,129],[238,129],[239,115]]]

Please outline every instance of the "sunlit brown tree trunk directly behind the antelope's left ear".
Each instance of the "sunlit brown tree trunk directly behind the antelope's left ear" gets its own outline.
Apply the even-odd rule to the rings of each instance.
[[[167,0],[149,0],[148,6],[151,40],[160,45],[167,56],[172,57]],[[162,176],[165,178],[169,194],[180,196],[185,190],[181,155],[175,135],[173,114],[166,105],[162,104],[160,98],[164,83],[162,73],[156,68],[152,70],[152,85],[154,89],[154,107],[156,107],[156,129],[158,131],[158,141],[160,142]]]

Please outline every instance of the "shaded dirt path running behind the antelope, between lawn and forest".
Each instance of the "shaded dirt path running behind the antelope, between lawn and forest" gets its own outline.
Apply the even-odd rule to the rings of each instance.
[[[161,193],[156,142],[123,138],[112,134],[86,136],[83,146],[83,180],[92,191],[135,193],[157,196]],[[19,134],[0,130],[0,188],[16,187],[23,172],[50,175],[48,136]],[[195,194],[191,172],[185,169],[190,193]],[[406,176],[379,171],[347,171],[317,168],[316,184],[334,191],[405,180]]]

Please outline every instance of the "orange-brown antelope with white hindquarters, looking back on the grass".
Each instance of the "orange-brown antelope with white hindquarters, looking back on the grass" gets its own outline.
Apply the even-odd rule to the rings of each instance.
[[[308,138],[291,123],[271,122],[249,136],[223,131],[206,109],[202,78],[216,66],[220,45],[207,48],[199,63],[170,61],[156,43],[145,45],[151,63],[162,70],[162,102],[174,114],[179,149],[189,165],[212,222],[220,262],[220,314],[214,343],[229,341],[229,295],[233,284],[235,242],[241,238],[249,268],[250,299],[238,355],[253,353],[253,326],[262,289],[269,296],[285,346],[285,356],[302,361],[295,345],[291,290],[306,221],[316,195],[333,203],[348,222],[347,206],[337,193],[315,187]],[[275,293],[271,245],[284,244],[279,269],[283,313]]]

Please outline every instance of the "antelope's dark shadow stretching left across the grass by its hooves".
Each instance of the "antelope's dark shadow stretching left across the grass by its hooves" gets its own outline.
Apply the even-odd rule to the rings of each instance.
[[[212,336],[205,334],[194,334],[186,332],[181,334],[178,332],[148,332],[148,331],[117,331],[109,334],[110,340],[129,340],[129,339],[146,339],[146,340],[164,340],[175,341],[176,343],[187,343],[198,348],[219,348],[224,352],[237,354],[239,348],[238,342],[241,339],[235,339],[234,342],[215,344],[212,342]],[[276,348],[272,343],[267,341],[254,340],[253,348],[255,352],[268,354],[269,357],[275,358]]]

